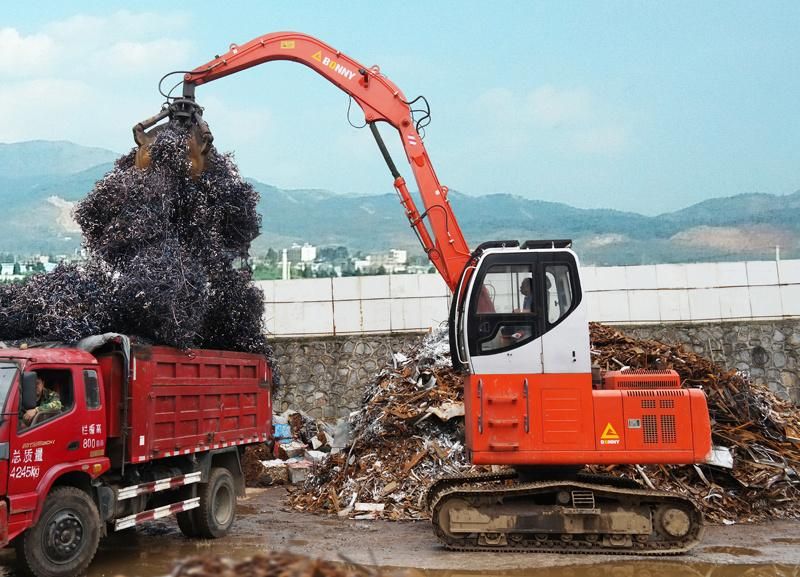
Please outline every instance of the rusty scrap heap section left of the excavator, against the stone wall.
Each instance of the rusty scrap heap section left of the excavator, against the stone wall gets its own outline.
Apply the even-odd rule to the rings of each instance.
[[[350,420],[350,446],[290,496],[297,509],[358,518],[423,519],[425,491],[443,475],[482,468],[466,458],[463,384],[446,331],[396,353]]]

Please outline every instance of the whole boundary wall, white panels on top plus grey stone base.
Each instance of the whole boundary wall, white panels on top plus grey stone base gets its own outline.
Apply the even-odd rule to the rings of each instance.
[[[800,260],[584,267],[589,319],[680,342],[800,403]],[[329,420],[393,351],[446,322],[438,275],[259,283],[284,385],[276,410]]]

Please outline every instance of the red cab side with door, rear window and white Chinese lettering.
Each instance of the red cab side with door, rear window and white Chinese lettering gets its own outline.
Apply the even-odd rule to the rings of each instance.
[[[48,365],[28,370],[42,376],[45,387],[58,394],[61,408],[42,412],[31,424],[23,422],[22,411],[15,417],[9,495],[34,492],[48,469],[100,456],[105,448],[105,411],[96,369]]]

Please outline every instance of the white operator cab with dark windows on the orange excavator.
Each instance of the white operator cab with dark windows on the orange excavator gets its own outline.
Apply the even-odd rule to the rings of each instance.
[[[451,310],[454,363],[472,374],[588,373],[589,328],[569,240],[484,243]]]

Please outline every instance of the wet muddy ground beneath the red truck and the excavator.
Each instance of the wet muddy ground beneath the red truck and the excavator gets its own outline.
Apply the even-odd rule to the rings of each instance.
[[[800,575],[800,521],[712,526],[689,555],[637,558],[611,555],[455,553],[442,549],[427,522],[353,521],[298,513],[286,489],[248,489],[231,534],[189,541],[172,519],[106,539],[89,577],[169,574],[175,559],[198,554],[247,557],[265,550],[392,568],[391,574],[532,575],[546,577]],[[0,552],[0,575],[17,575],[14,553]]]

